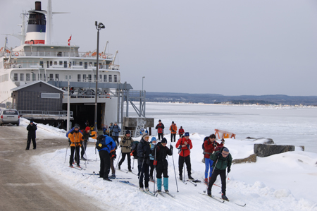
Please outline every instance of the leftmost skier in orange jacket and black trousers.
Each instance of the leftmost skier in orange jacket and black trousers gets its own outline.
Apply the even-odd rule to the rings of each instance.
[[[74,162],[74,152],[77,162],[77,167],[80,167],[80,147],[82,146],[82,140],[84,136],[79,131],[79,126],[75,125],[74,130],[68,134],[70,139],[70,158],[69,158],[69,167],[73,168]]]

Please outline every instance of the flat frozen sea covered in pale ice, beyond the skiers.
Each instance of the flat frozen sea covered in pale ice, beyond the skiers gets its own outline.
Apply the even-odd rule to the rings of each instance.
[[[133,111],[131,107],[130,116],[135,115]],[[317,107],[147,102],[146,116],[154,118],[154,126],[161,119],[164,133],[170,133],[174,121],[189,133],[210,135],[218,128],[235,133],[240,140],[272,138],[278,145],[304,145],[306,152],[317,152]]]

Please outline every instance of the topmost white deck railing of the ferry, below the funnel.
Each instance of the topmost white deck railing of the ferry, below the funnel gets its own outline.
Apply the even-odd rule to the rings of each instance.
[[[4,56],[4,54],[0,54]],[[18,56],[61,56],[61,57],[85,57],[85,58],[96,58],[96,52],[51,52],[51,51],[15,51],[12,52],[13,57]],[[99,54],[99,59],[112,59],[112,54]]]

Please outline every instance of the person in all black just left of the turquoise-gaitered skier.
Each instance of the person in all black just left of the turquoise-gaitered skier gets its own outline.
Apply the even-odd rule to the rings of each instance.
[[[144,133],[139,144],[137,145],[137,167],[139,169],[139,190],[144,191],[143,177],[145,190],[149,191],[149,155],[151,148],[149,146],[149,135]]]

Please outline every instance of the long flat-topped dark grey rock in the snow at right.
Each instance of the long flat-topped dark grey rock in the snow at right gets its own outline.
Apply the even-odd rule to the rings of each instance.
[[[294,150],[294,145],[254,144],[254,153],[259,157],[268,157],[270,155],[280,154],[282,152],[289,152]]]

